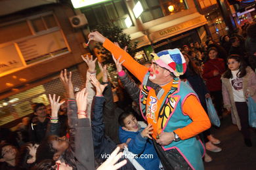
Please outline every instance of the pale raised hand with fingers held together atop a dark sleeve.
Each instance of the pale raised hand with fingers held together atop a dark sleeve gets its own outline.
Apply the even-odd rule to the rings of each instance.
[[[78,118],[87,118],[87,95],[88,92],[86,88],[83,88],[80,92],[77,92],[76,103],[77,103],[77,116]]]

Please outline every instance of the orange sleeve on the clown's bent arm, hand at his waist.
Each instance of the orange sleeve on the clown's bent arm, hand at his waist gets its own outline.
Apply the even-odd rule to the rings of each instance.
[[[211,127],[211,122],[196,96],[188,96],[184,101],[182,110],[184,114],[187,114],[192,119],[191,124],[188,126],[175,130],[175,133],[179,135],[182,140],[194,137],[198,135],[198,133]]]

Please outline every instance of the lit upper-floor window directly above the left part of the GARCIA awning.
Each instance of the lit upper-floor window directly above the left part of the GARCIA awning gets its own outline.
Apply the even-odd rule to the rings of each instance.
[[[135,1],[137,3],[138,1]],[[158,0],[140,0],[143,12],[140,15],[142,22],[149,22],[163,17],[160,1]]]

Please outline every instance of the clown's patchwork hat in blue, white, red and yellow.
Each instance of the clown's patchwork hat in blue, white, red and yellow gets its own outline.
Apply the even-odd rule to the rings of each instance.
[[[153,56],[154,61],[160,67],[171,71],[175,76],[183,75],[186,71],[186,60],[178,48],[163,50],[157,54],[151,53],[150,55]]]

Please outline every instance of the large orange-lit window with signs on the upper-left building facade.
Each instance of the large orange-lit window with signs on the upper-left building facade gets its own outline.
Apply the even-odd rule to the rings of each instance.
[[[53,12],[3,24],[0,37],[0,73],[70,52]]]

